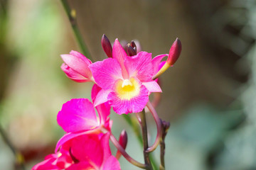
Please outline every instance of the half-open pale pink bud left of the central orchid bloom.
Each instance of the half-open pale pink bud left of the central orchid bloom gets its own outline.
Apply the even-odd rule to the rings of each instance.
[[[89,65],[92,62],[80,52],[71,51],[69,55],[60,55],[65,63],[61,65],[61,69],[68,78],[77,82],[94,81]]]

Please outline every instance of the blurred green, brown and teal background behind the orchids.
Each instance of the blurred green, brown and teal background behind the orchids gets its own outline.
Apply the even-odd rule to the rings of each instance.
[[[153,56],[181,40],[180,59],[161,76],[164,93],[156,107],[171,122],[166,169],[256,169],[255,0],[68,3],[95,61],[106,58],[103,33],[112,42],[139,40]],[[0,0],[1,169],[21,169],[14,152],[26,169],[41,162],[64,134],[56,122],[62,104],[90,98],[92,84],[75,83],[60,69],[60,54],[70,50],[80,51],[59,0]],[[111,117],[114,135],[127,129],[127,152],[142,162],[129,125]],[[156,127],[147,118],[152,143]],[[159,160],[159,151],[154,156]],[[120,162],[124,170],[137,169],[123,157]]]

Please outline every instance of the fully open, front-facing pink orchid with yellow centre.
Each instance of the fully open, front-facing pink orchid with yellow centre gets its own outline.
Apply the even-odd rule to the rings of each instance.
[[[129,57],[118,40],[114,42],[112,58],[90,64],[89,68],[102,88],[95,98],[95,106],[109,101],[118,114],[142,111],[149,94],[161,92],[160,86],[152,80],[159,63],[151,60],[151,53],[139,52]]]

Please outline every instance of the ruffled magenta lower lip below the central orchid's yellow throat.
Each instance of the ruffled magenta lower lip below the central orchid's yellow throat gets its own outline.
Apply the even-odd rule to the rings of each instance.
[[[139,94],[129,100],[119,98],[117,92],[111,92],[109,96],[107,96],[107,99],[110,101],[110,105],[113,107],[114,112],[119,115],[123,113],[139,113],[149,101],[149,91],[141,84],[139,86]]]

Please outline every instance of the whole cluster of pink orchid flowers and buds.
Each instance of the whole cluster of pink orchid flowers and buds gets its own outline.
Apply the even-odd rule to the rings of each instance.
[[[108,58],[94,63],[76,51],[61,55],[64,61],[61,69],[68,78],[95,83],[92,87],[92,102],[87,98],[75,98],[63,104],[57,121],[66,134],[58,141],[55,153],[33,166],[33,170],[117,170],[120,169],[118,159],[121,154],[132,164],[148,169],[147,164],[135,161],[125,152],[125,130],[119,141],[112,135],[110,108],[120,115],[140,113],[147,107],[156,120],[158,135],[154,145],[146,148],[146,152],[156,149],[160,138],[164,136],[164,128],[169,127],[159,119],[149,95],[162,92],[158,77],[178,59],[181,42],[176,39],[169,54],[158,55],[153,59],[151,53],[137,50],[140,47],[134,41],[127,45],[125,51],[117,39],[112,47],[110,40],[103,35],[102,47]],[[161,62],[166,56],[167,60]],[[142,124],[141,118],[137,118]],[[111,153],[109,140],[117,147],[115,157]]]

